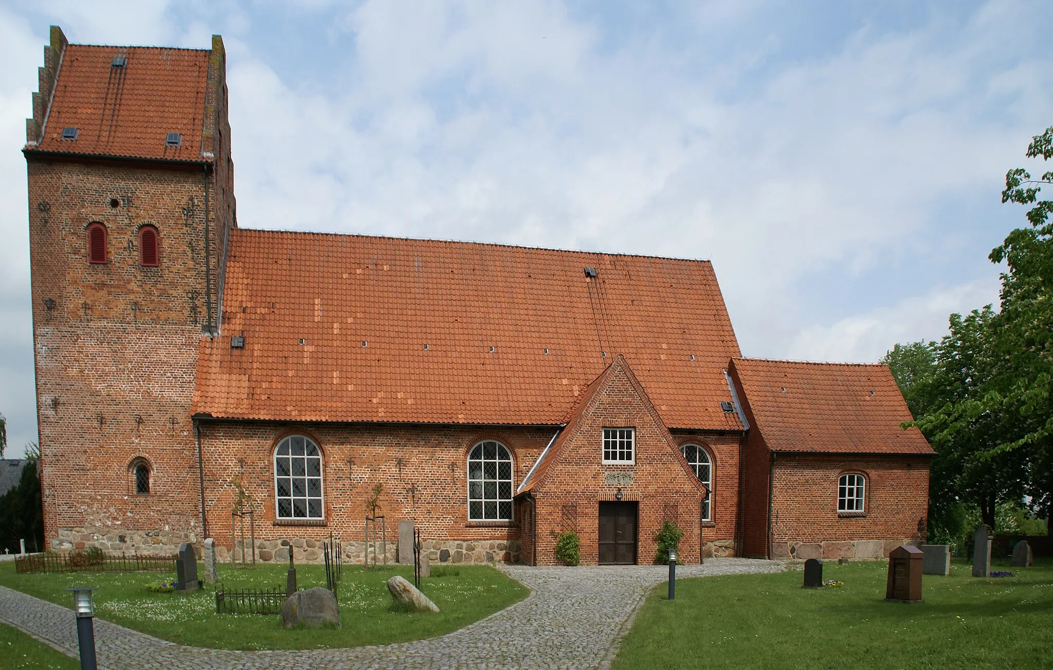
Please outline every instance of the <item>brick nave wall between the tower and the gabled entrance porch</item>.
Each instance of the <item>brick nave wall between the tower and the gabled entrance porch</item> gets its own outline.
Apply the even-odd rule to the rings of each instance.
[[[468,520],[468,454],[483,439],[505,445],[513,457],[514,489],[554,432],[554,428],[202,420],[208,534],[222,547],[233,546],[231,510],[237,477],[252,496],[258,539],[317,541],[333,532],[345,541],[361,541],[366,499],[379,484],[378,513],[385,517],[393,545],[398,521],[412,518],[435,558],[445,548],[451,560],[485,559],[488,552],[495,560],[518,560],[517,520]],[[307,435],[322,452],[323,526],[276,520],[274,450],[282,437],[294,433]],[[457,552],[460,556],[454,555]]]

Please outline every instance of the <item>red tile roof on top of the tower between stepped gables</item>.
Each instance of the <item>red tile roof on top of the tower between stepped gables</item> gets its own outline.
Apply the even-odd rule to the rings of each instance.
[[[211,161],[202,155],[206,50],[69,44],[44,135],[27,151]],[[114,57],[127,59],[114,67]],[[62,130],[76,127],[76,141]],[[168,133],[182,144],[168,146]]]

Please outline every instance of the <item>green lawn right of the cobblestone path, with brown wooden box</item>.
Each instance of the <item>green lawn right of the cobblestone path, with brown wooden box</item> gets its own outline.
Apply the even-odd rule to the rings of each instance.
[[[615,661],[627,668],[1053,668],[1053,560],[1014,577],[925,575],[923,603],[885,602],[888,563],[678,579],[652,591]]]

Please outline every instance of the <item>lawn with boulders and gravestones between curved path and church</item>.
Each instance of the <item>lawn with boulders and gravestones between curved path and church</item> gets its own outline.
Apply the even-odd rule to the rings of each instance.
[[[284,589],[286,566],[235,570],[219,566],[220,582],[231,588]],[[325,586],[322,566],[297,566],[301,589]],[[200,576],[202,572],[198,572]],[[164,573],[17,574],[13,563],[0,564],[0,586],[22,591],[64,607],[73,596],[64,589],[94,586],[95,614],[115,624],[163,639],[215,649],[314,649],[384,645],[434,637],[462,628],[520,600],[530,591],[488,566],[434,566],[434,576],[421,580],[421,590],[442,610],[438,614],[405,612],[393,606],[388,578],[400,574],[413,580],[412,566],[344,566],[338,589],[339,629],[285,630],[277,615],[216,614],[210,588],[192,595],[153,593],[146,585]]]

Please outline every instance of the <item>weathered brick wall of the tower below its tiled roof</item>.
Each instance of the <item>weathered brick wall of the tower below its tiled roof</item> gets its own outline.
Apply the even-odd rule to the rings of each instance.
[[[102,529],[188,537],[199,530],[183,479],[196,472],[188,412],[204,318],[202,176],[38,159],[27,170],[46,538],[57,546],[60,529],[80,531],[74,546]],[[96,221],[107,231],[105,264],[87,262]],[[160,233],[158,268],[139,264],[143,224]],[[135,494],[136,457],[165,474],[148,500]]]

